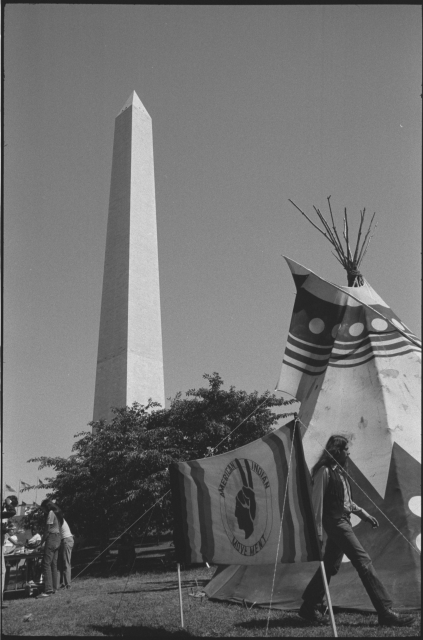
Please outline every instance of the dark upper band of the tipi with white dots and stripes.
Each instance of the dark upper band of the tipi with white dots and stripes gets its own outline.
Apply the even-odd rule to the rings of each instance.
[[[368,282],[338,287],[292,260],[288,264],[301,283],[283,358],[288,367],[318,376],[328,366],[356,367],[375,358],[421,352],[418,338]],[[278,387],[284,383],[281,380]]]

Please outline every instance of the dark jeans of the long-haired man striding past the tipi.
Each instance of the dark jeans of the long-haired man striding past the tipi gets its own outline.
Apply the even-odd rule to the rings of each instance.
[[[323,527],[328,534],[325,554],[323,557],[328,583],[335,576],[345,554],[354,569],[356,569],[361,581],[368,593],[370,600],[378,614],[383,614],[392,607],[392,600],[388,592],[379,580],[374,570],[370,556],[361,546],[353,528],[349,516],[343,516],[336,520],[323,516]],[[303,593],[303,600],[312,605],[323,602],[325,587],[322,572],[319,567]]]

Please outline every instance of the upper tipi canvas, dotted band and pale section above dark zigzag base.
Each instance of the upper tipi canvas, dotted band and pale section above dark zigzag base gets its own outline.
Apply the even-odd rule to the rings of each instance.
[[[301,402],[301,422],[312,427],[307,463],[343,433],[384,497],[395,442],[420,462],[420,341],[365,280],[340,287],[287,262],[297,297],[277,388]]]

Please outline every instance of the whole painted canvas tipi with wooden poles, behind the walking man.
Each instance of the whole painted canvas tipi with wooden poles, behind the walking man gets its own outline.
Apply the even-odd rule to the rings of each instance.
[[[301,402],[309,468],[331,434],[349,437],[354,499],[380,523],[377,531],[358,518],[353,526],[394,605],[420,608],[421,343],[359,272],[373,218],[360,246],[361,213],[353,253],[346,213],[344,251],[331,209],[333,231],[315,210],[325,231],[316,228],[334,246],[349,286],[331,284],[287,259],[297,295],[277,389]],[[344,560],[331,589],[333,605],[372,610]],[[272,607],[296,609],[316,567],[278,565],[272,594],[273,566],[219,567],[205,590],[219,600],[263,606],[272,600]]]

